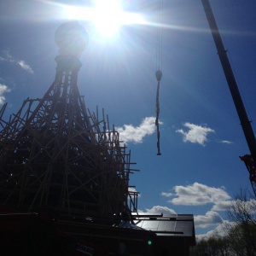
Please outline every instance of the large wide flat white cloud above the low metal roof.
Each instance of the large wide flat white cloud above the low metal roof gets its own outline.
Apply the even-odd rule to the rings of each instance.
[[[230,199],[224,188],[213,188],[201,183],[189,186],[175,186],[175,198],[171,201],[174,205],[202,206],[208,203],[217,204]]]

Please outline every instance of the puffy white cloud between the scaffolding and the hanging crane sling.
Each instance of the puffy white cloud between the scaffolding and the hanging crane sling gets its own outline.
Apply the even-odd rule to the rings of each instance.
[[[137,127],[133,125],[116,127],[116,131],[119,131],[120,141],[124,141],[125,143],[143,143],[143,137],[151,135],[155,131],[155,118],[146,117]]]

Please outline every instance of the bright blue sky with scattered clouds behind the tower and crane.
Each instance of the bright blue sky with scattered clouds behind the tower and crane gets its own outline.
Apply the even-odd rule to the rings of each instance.
[[[201,1],[162,0],[161,156],[154,125],[160,1],[119,3],[145,22],[104,38],[91,20],[79,17],[90,37],[80,59],[80,94],[91,111],[104,108],[131,149],[140,170],[130,183],[140,192],[139,210],[192,213],[196,235],[208,236],[220,230],[224,206],[234,195],[252,189],[239,159],[249,153],[247,143]],[[67,4],[91,8],[94,1],[0,2],[0,104],[9,102],[6,118],[27,97],[42,97],[53,82],[54,33],[69,18]],[[211,4],[255,131],[256,3]]]

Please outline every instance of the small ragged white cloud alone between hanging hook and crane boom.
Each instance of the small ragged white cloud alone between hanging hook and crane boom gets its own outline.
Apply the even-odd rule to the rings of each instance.
[[[194,125],[190,123],[185,123],[183,126],[189,129],[189,131],[183,131],[183,129],[179,129],[176,132],[183,135],[183,142],[187,143],[199,143],[201,145],[205,145],[207,143],[207,135],[210,132],[215,132],[211,128],[202,125]]]

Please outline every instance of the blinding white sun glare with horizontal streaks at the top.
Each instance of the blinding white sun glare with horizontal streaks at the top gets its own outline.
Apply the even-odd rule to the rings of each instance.
[[[93,8],[65,6],[65,16],[71,20],[90,20],[102,38],[112,38],[123,25],[143,24],[141,15],[123,11],[119,0],[97,0]]]

